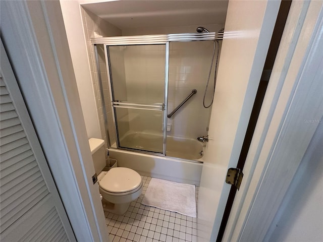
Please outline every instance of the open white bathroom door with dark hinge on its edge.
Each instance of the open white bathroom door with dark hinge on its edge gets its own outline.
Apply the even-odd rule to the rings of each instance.
[[[229,1],[198,197],[198,240],[215,241],[275,26],[279,1]]]

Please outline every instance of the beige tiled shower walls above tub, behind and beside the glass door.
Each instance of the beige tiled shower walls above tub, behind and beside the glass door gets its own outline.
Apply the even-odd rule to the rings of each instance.
[[[167,135],[196,139],[207,133],[210,110],[203,108],[202,103],[213,41],[171,42],[169,73],[165,73],[165,49],[165,44],[110,46],[115,99],[164,103],[165,77],[168,75],[168,113],[174,110],[193,89],[196,89],[197,93],[174,116],[167,119],[167,124],[171,126]],[[211,101],[213,80],[214,73],[210,76],[207,104]],[[110,100],[105,101],[110,103]],[[118,127],[119,132],[122,132],[119,133],[121,139],[127,132],[163,134],[162,112],[129,109],[127,113],[118,114],[117,117],[118,125],[125,120],[129,125],[128,130]]]

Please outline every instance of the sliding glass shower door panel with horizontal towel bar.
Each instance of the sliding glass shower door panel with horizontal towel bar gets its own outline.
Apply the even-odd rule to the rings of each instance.
[[[119,148],[163,153],[165,44],[107,46]]]

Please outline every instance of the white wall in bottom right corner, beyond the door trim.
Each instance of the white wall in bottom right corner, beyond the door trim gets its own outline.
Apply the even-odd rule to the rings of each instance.
[[[320,124],[265,236],[265,241],[323,241],[322,144],[323,124]]]

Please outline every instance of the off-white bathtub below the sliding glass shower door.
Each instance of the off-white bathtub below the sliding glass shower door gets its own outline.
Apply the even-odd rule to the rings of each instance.
[[[110,148],[110,158],[117,159],[118,166],[134,169],[140,175],[199,186],[203,165],[200,152],[203,150],[203,143],[171,136],[167,137],[167,142],[168,156]]]

